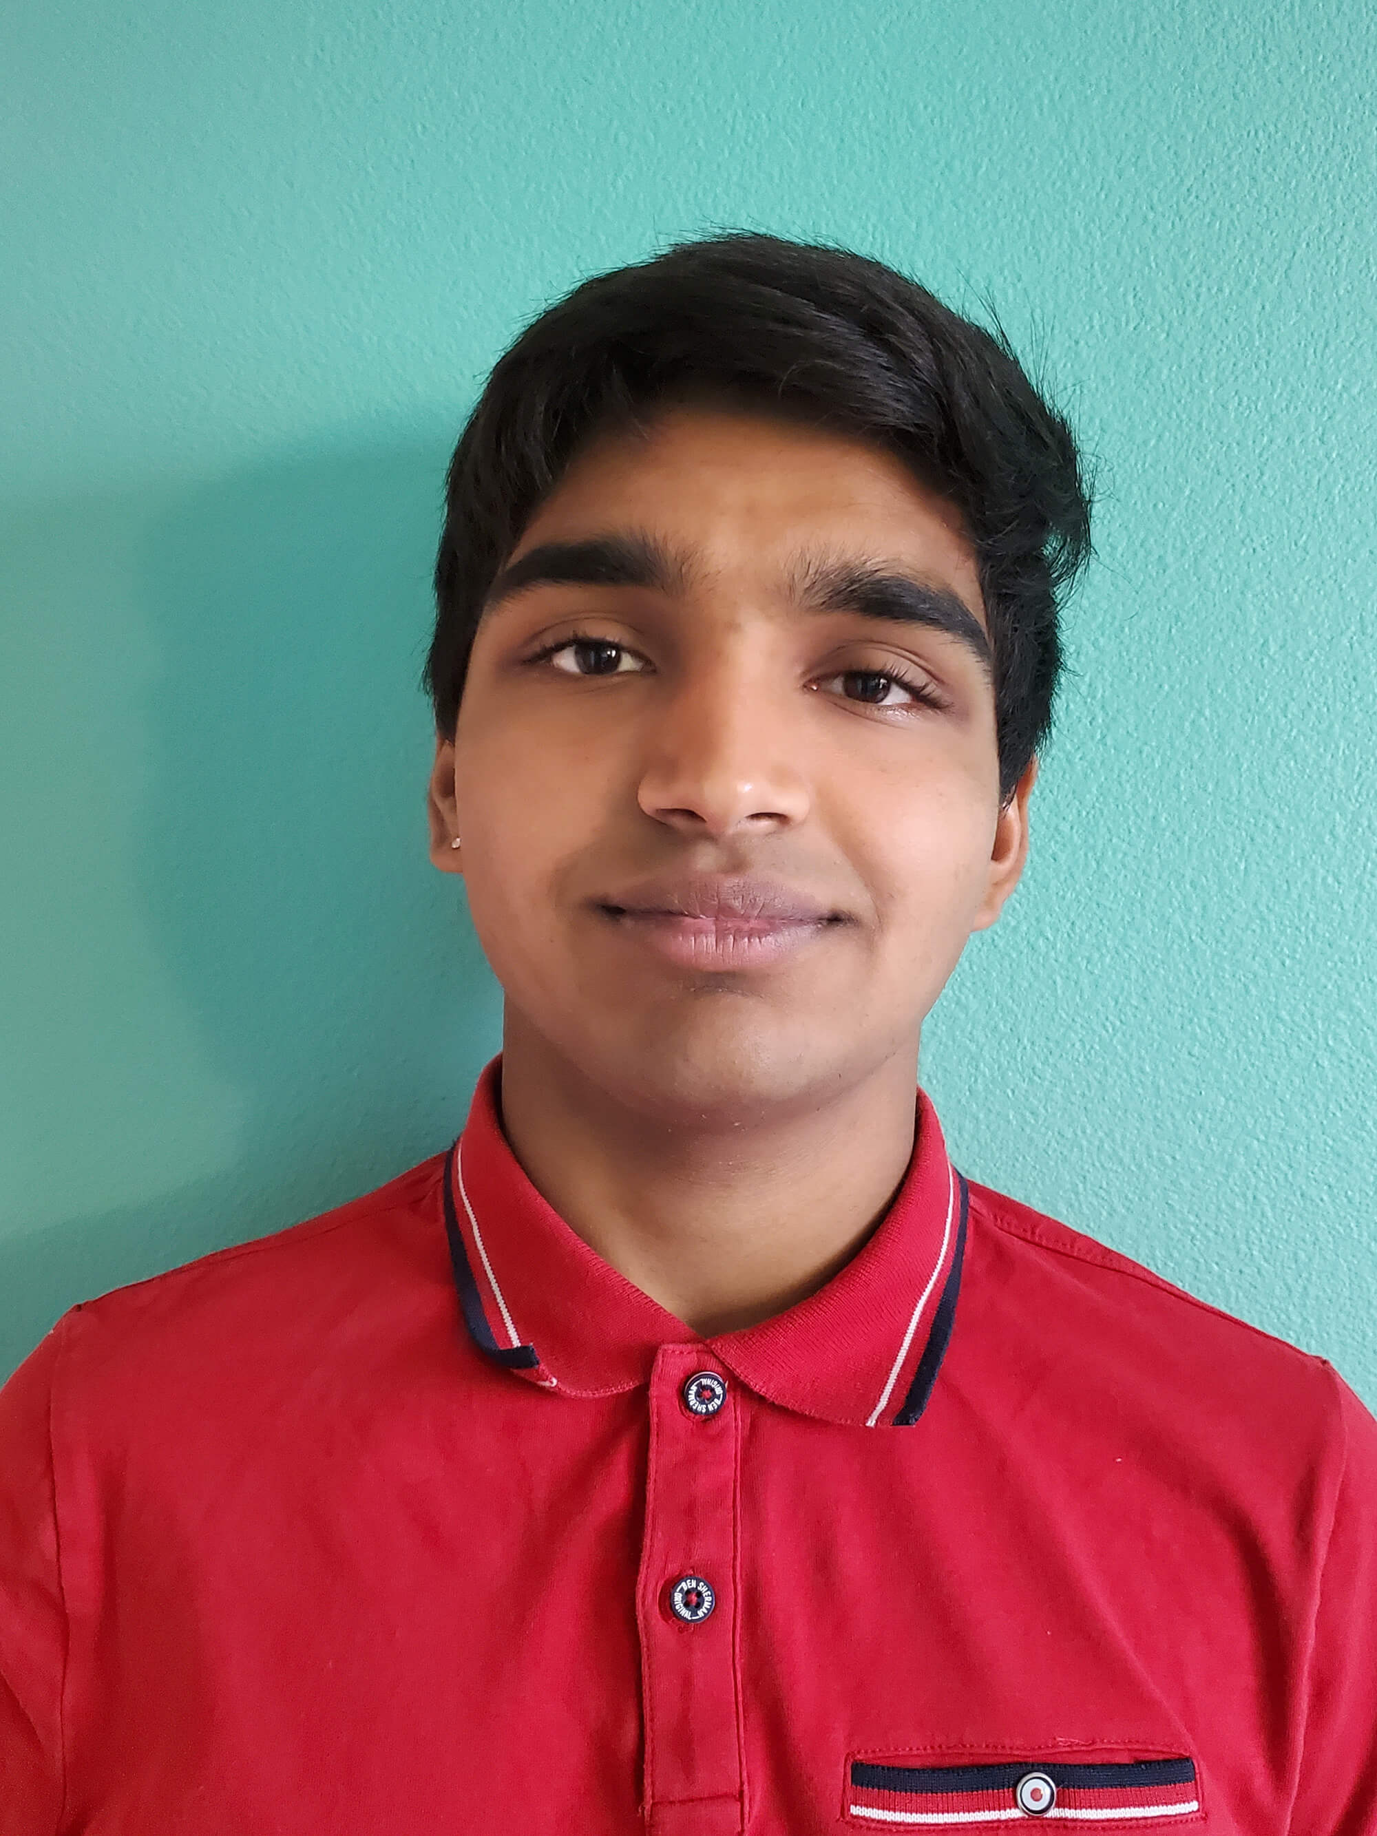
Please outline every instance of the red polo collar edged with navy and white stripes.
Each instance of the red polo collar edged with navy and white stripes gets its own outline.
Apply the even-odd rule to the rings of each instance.
[[[565,1397],[650,1377],[666,1344],[701,1344],[749,1390],[850,1427],[918,1419],[951,1335],[966,1243],[966,1181],[918,1092],[912,1159],[861,1250],[786,1313],[701,1338],[597,1256],[516,1162],[498,1111],[499,1067],[479,1078],[444,1164],[442,1204],[465,1326],[514,1377]]]

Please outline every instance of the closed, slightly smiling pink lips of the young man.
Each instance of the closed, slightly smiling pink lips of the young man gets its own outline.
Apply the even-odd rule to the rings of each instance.
[[[745,874],[643,879],[595,907],[672,964],[718,973],[782,962],[845,924],[810,894]]]

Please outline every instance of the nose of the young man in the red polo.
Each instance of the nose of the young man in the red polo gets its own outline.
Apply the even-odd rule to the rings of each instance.
[[[733,646],[685,672],[655,711],[637,791],[646,815],[711,839],[804,821],[804,696],[764,677]]]

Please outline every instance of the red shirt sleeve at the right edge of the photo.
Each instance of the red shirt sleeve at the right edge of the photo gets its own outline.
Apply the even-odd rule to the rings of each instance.
[[[1335,1383],[1344,1471],[1315,1616],[1293,1836],[1377,1830],[1377,1421]]]

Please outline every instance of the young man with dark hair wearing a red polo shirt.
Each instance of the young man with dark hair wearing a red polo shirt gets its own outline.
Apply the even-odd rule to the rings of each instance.
[[[1377,1829],[1377,1427],[914,1102],[1087,547],[1012,354],[852,255],[499,362],[428,679],[501,1059],[11,1381],[2,1832]]]

